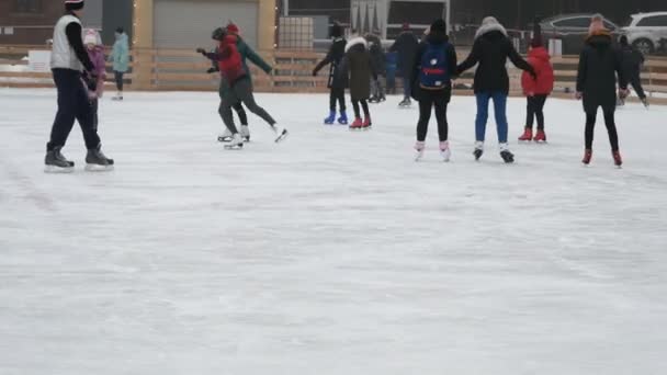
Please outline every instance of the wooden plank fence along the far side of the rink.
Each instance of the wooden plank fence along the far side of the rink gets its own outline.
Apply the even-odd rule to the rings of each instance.
[[[45,46],[0,46],[0,87],[49,88],[50,73],[27,71],[23,59],[29,50],[44,50]],[[251,66],[255,88],[258,92],[326,92],[327,69],[318,77],[312,71],[324,54],[303,50],[278,50],[262,54],[273,66],[273,72],[265,75]],[[465,58],[465,56],[460,56]],[[552,60],[556,76],[555,94],[569,94],[575,89],[578,58],[556,57]],[[8,69],[7,67],[13,67]],[[23,67],[23,69],[22,69]],[[219,77],[206,73],[211,63],[193,50],[182,49],[134,49],[131,72],[125,75],[129,90],[163,91],[213,91]],[[111,72],[111,64],[108,64]],[[472,94],[473,72],[466,72],[455,81],[457,94]],[[510,68],[511,93],[520,95],[520,75]],[[112,84],[113,75],[108,76]],[[667,93],[667,59],[651,59],[642,75],[645,89],[651,93]],[[400,84],[402,80],[397,80]]]

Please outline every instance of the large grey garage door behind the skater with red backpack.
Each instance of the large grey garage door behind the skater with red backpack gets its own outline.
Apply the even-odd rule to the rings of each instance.
[[[196,48],[211,44],[211,32],[229,20],[244,39],[257,47],[258,2],[156,0],[154,44],[157,48]]]

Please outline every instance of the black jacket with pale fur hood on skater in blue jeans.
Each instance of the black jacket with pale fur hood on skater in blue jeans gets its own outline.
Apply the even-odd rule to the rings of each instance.
[[[507,37],[507,31],[499,23],[483,24],[477,31],[470,56],[457,69],[457,76],[476,64],[475,93],[500,91],[509,94],[507,59],[522,70],[534,73],[533,68],[519,55]]]

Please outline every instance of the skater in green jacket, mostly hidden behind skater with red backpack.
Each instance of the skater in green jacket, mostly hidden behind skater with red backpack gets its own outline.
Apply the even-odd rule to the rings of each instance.
[[[265,73],[270,73],[272,70],[271,66],[269,64],[267,64],[267,61],[264,61],[264,59],[262,59],[241,38],[240,29],[233,22],[229,22],[227,24],[226,29],[227,29],[227,33],[234,34],[237,37],[238,42],[236,44],[236,47],[238,48],[238,53],[241,55],[241,60],[244,63],[244,69],[246,69],[246,72],[248,73],[248,79],[250,79],[250,83],[252,84],[252,75],[250,72],[250,67],[248,67],[247,60],[250,60],[257,67],[262,69]],[[215,71],[219,71],[216,61],[213,61],[213,66],[214,66]],[[221,80],[221,87],[218,90],[221,100],[223,98],[225,98],[227,90],[229,90],[229,84],[227,82],[225,82],[224,80]],[[238,102],[237,104],[235,104],[233,106],[233,109],[236,112],[236,114],[238,115],[239,122],[241,123],[241,129],[240,129],[241,137],[244,138],[244,141],[248,143],[248,141],[250,141],[250,128],[248,127],[248,114],[246,113],[246,110],[244,109],[244,104],[241,102]],[[229,143],[231,140],[231,133],[229,132],[229,129],[225,128],[225,132],[218,137],[218,140],[223,141],[223,143]]]

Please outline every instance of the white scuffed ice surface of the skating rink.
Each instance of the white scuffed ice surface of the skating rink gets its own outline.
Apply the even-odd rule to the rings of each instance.
[[[455,98],[453,160],[412,161],[417,111],[325,127],[325,95],[260,94],[225,151],[217,93],[101,104],[110,174],[42,172],[52,90],[0,90],[0,374],[665,374],[667,107],[619,112],[583,168],[583,113],[547,103],[549,145]],[[523,100],[509,104],[511,139]]]

